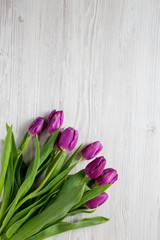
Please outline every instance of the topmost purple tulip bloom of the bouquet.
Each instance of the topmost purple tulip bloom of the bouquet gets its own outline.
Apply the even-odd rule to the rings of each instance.
[[[47,132],[55,132],[60,126],[62,126],[64,120],[63,111],[53,110],[46,121]]]

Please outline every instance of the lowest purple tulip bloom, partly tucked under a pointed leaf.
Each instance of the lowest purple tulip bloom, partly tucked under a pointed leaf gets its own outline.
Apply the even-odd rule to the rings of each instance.
[[[93,208],[96,208],[97,206],[98,207],[101,206],[105,201],[107,201],[107,199],[108,199],[108,194],[106,192],[102,192],[95,198],[86,202],[86,206],[88,208],[93,209]]]

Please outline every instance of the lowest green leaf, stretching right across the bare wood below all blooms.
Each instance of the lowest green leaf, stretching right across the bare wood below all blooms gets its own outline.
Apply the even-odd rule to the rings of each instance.
[[[36,235],[30,238],[27,238],[27,240],[43,240],[48,237],[51,237],[63,232],[67,232],[73,229],[98,225],[98,224],[106,223],[107,221],[109,221],[108,218],[93,217],[93,218],[84,218],[81,221],[78,221],[75,223],[61,222],[61,223],[52,225],[51,227],[48,227],[43,231],[40,231]]]

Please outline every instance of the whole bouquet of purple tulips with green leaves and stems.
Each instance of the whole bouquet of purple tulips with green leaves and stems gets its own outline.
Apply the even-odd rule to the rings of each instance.
[[[101,224],[105,217],[84,218],[67,222],[68,216],[92,213],[107,199],[105,190],[117,179],[117,171],[105,169],[106,159],[96,157],[102,150],[99,141],[82,144],[68,156],[78,141],[78,131],[61,128],[63,111],[52,111],[48,119],[36,118],[16,145],[12,126],[6,125],[0,172],[0,239],[41,240],[72,229]],[[48,136],[39,146],[39,134]],[[27,165],[23,152],[31,139],[35,141],[34,160]],[[78,153],[78,154],[77,154]],[[77,155],[80,156],[77,159]],[[96,157],[96,158],[95,158]],[[84,158],[85,169],[70,171]]]

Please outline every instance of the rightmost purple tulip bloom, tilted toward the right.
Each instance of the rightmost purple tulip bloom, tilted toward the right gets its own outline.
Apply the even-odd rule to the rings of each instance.
[[[113,168],[105,169],[96,179],[97,185],[113,184],[118,179],[117,171]]]

